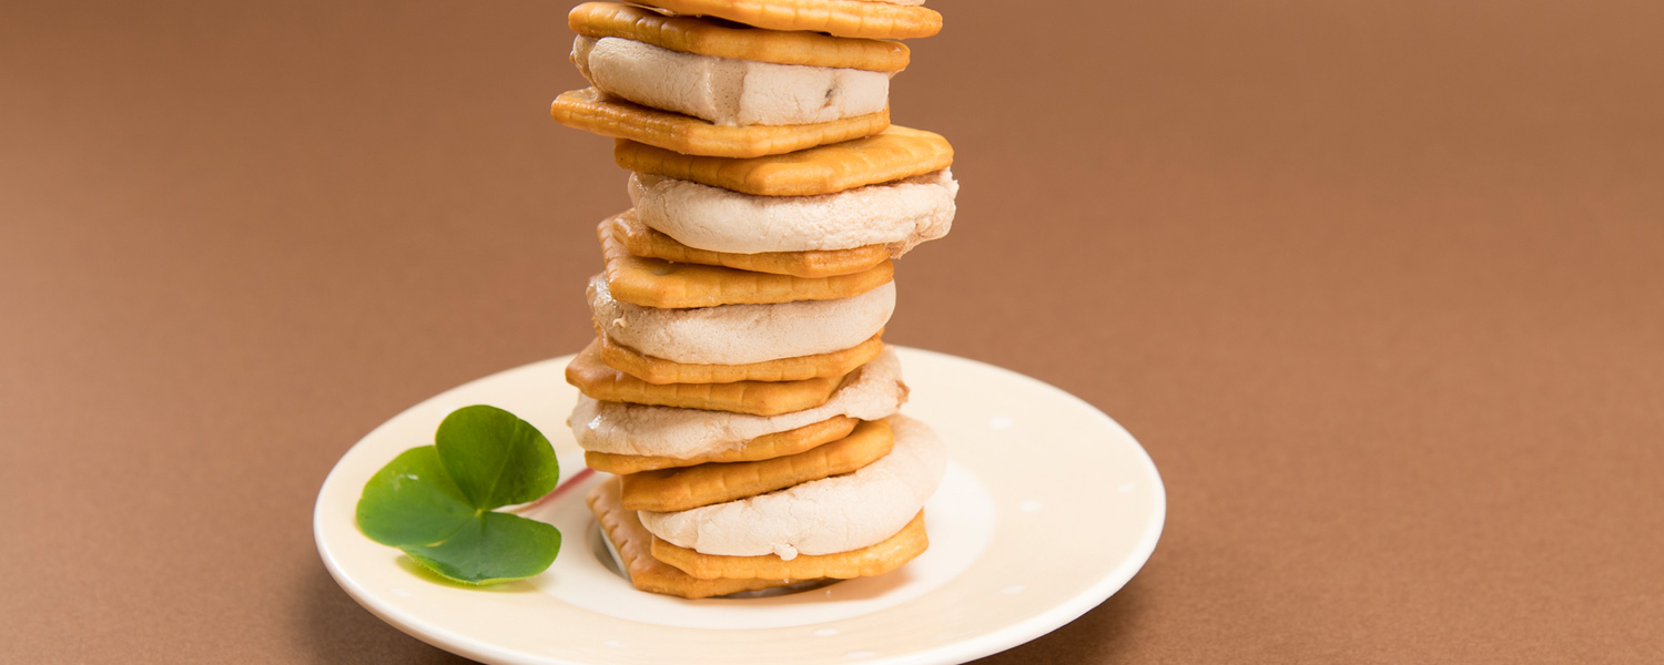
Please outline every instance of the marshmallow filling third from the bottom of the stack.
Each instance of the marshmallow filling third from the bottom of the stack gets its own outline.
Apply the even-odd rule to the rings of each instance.
[[[589,278],[589,314],[607,337],[687,364],[747,364],[844,351],[879,334],[894,311],[894,281],[830,301],[659,309],[619,303],[604,276]]]

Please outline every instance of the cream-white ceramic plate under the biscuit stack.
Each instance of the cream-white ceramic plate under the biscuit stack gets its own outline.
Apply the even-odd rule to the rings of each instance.
[[[584,469],[566,427],[569,357],[434,396],[369,432],[318,492],[313,534],[336,582],[378,617],[434,647],[489,663],[962,663],[1045,635],[1115,594],[1150,559],[1166,514],[1155,464],[1122,426],[1027,376],[897,349],[904,409],[947,441],[953,462],[925,505],[930,550],[897,572],[772,598],[682,600],[607,570],[576,480],[527,517],[554,524],[561,555],[542,575],[464,589],[424,575],[363,537],[364,482],[433,442],[468,404],[513,411],[554,442],[562,475]]]

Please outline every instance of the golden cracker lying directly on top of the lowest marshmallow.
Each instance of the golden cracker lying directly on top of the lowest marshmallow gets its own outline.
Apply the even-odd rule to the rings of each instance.
[[[701,505],[755,497],[764,492],[849,474],[884,457],[895,436],[884,421],[867,421],[850,436],[795,456],[760,462],[701,464],[619,477],[631,510],[691,510]]]

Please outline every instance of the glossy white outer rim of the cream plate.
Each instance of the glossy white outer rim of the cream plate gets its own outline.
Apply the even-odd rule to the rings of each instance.
[[[1087,612],[1102,605],[1105,600],[1115,595],[1115,592],[1122,590],[1128,582],[1132,582],[1133,577],[1137,577],[1140,570],[1143,570],[1145,564],[1148,564],[1150,557],[1155,554],[1161,534],[1166,529],[1166,482],[1161,479],[1160,469],[1156,469],[1155,466],[1155,459],[1150,457],[1150,451],[1145,449],[1143,442],[1138,441],[1138,437],[1135,437],[1130,431],[1127,431],[1125,426],[1122,426],[1118,421],[1110,417],[1107,412],[1103,412],[1092,402],[1087,402],[1085,399],[1068,391],[1063,391],[1062,387],[1052,386],[1045,381],[1018,372],[1015,369],[1007,369],[992,362],[978,361],[973,357],[953,356],[942,351],[930,351],[902,344],[885,344],[885,346],[894,347],[899,354],[922,354],[922,356],[932,356],[935,361],[972,364],[980,371],[992,371],[997,374],[1003,374],[1007,377],[1025,382],[1032,387],[1038,387],[1040,391],[1050,394],[1052,397],[1062,399],[1078,407],[1085,407],[1088,412],[1093,414],[1095,419],[1108,424],[1113,431],[1120,432],[1120,436],[1125,436],[1127,441],[1132,442],[1132,447],[1137,452],[1137,459],[1138,464],[1142,466],[1142,470],[1148,474],[1148,477],[1153,482],[1150,487],[1151,492],[1150,522],[1145,527],[1143,534],[1138,535],[1137,544],[1133,545],[1128,557],[1122,559],[1110,570],[1110,574],[1100,577],[1092,585],[1082,589],[1068,600],[1053,605],[1052,608],[1038,615],[1028,617],[1025,620],[1005,625],[1002,628],[997,628],[993,632],[968,640],[943,643],[912,653],[899,653],[899,655],[865,660],[867,663],[872,665],[963,663],[968,660],[983,658],[993,653],[1010,650],[1013,647],[1037,640],[1057,628],[1062,628],[1063,625],[1073,622],[1075,618],[1080,618],[1082,615],[1085,615]],[[464,637],[443,625],[434,625],[418,617],[404,617],[398,610],[388,607],[383,598],[376,597],[374,594],[368,594],[368,590],[364,589],[359,589],[359,585],[356,585],[344,574],[344,570],[341,570],[341,564],[334,557],[331,557],[329,550],[324,545],[324,534],[323,534],[323,522],[326,519],[324,502],[323,502],[324,487],[331,484],[336,474],[343,472],[341,470],[343,462],[359,444],[374,437],[383,429],[388,429],[396,421],[401,421],[403,417],[406,417],[406,414],[418,411],[434,401],[446,399],[454,392],[471,389],[476,384],[496,381],[506,374],[531,371],[544,364],[557,364],[561,361],[569,361],[576,354],[554,356],[519,364],[439,391],[388,417],[371,431],[364,432],[363,437],[359,437],[356,442],[353,442],[353,446],[349,446],[346,451],[341,452],[341,457],[334,461],[334,464],[329,467],[329,472],[324,474],[323,482],[318,485],[318,497],[313,502],[313,544],[318,549],[318,555],[323,560],[324,569],[329,572],[329,577],[334,579],[336,585],[339,585],[348,594],[348,597],[358,602],[359,607],[368,610],[376,618],[436,648],[481,662],[496,662],[496,663],[526,662],[524,658],[521,658],[522,653],[518,650],[506,650],[498,645],[481,642],[478,638]],[[539,655],[536,662],[551,665],[594,665],[594,662],[567,660],[556,655]]]

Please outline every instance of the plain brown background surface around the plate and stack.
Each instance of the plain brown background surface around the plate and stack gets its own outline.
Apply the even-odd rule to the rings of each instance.
[[[1664,662],[1664,5],[938,5],[894,116],[963,193],[889,337],[1080,394],[1171,500],[988,662]],[[0,660],[454,660],[310,510],[591,334],[566,8],[0,8]]]

